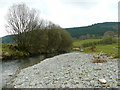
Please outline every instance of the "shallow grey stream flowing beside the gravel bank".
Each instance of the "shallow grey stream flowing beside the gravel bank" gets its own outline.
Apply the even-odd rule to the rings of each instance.
[[[49,55],[40,55],[30,58],[24,58],[24,59],[17,59],[17,60],[7,60],[2,61],[0,63],[0,68],[2,74],[0,78],[0,88],[12,88],[12,80],[16,77],[16,75],[20,72],[21,69],[27,68],[29,66],[35,65],[37,63],[40,63],[43,59],[55,56],[55,54],[49,54]]]

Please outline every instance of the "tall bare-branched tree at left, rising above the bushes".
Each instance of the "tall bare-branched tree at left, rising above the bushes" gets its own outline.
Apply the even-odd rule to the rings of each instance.
[[[42,26],[35,9],[29,9],[25,4],[14,4],[7,14],[7,30],[15,35],[15,42],[21,50],[27,50],[33,30]]]

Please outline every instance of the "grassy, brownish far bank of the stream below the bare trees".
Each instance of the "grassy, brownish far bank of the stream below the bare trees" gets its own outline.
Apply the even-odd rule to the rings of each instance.
[[[12,45],[12,48],[10,47],[11,45]],[[25,58],[31,58],[31,57],[36,57],[40,55],[45,55],[46,57],[52,57],[52,56],[67,52],[67,51],[54,51],[54,52],[30,53],[25,51],[19,51],[13,47],[15,47],[14,44],[3,44],[2,55],[0,55],[0,59],[2,61],[25,59]]]

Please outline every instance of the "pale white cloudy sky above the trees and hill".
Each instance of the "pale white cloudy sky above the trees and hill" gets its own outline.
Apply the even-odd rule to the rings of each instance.
[[[39,11],[40,17],[62,28],[118,21],[120,0],[0,0],[0,37],[8,35],[6,14],[13,4],[25,3]]]

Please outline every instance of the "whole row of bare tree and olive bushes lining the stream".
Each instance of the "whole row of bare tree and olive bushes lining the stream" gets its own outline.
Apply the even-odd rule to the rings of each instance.
[[[7,22],[7,31],[15,35],[20,51],[30,54],[61,52],[68,51],[72,45],[72,37],[66,30],[40,18],[37,10],[24,3],[9,8]]]

